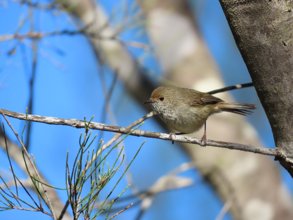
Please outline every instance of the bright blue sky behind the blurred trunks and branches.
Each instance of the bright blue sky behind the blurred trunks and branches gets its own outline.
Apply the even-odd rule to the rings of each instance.
[[[113,9],[119,11],[118,9],[121,5],[119,0],[99,2],[109,14]],[[127,2],[132,3],[130,0]],[[220,71],[223,73],[226,85],[251,82],[219,2],[208,0],[200,1],[196,4],[194,1],[191,3],[203,38]],[[2,4],[6,6],[0,8],[2,21],[0,35],[13,34],[16,32],[20,21],[28,16],[28,7],[25,4],[19,5],[17,2],[12,1],[2,2]],[[117,12],[115,17],[119,21],[120,14]],[[35,31],[51,32],[75,29],[74,24],[66,13],[34,10],[33,21]],[[30,22],[27,21],[19,30],[19,33],[27,33],[29,29]],[[125,41],[134,39],[142,43],[149,42],[143,27],[129,29],[123,32],[120,37]],[[0,42],[0,108],[2,109],[25,113],[25,107],[28,105],[29,79],[32,72],[30,43],[31,41],[28,39],[23,40],[18,43],[15,53],[8,55],[8,51],[17,44],[17,40]],[[100,69],[96,63],[91,45],[86,38],[82,35],[49,36],[38,43],[38,48],[33,113],[41,116],[79,120],[83,120],[84,116],[86,116],[86,119],[90,119],[91,116],[95,115],[93,121],[101,122],[102,108],[104,106],[102,84],[106,84],[106,87],[109,88],[114,75],[108,67],[104,66],[105,82],[101,82],[99,77]],[[144,55],[142,49],[132,47],[128,47],[128,49],[137,58]],[[162,74],[159,64],[152,55],[144,60],[143,65],[154,71],[156,75]],[[263,143],[267,147],[274,148],[268,120],[260,107],[261,105],[254,89],[234,91],[232,95],[236,101],[249,102],[248,100],[250,100],[251,103],[258,105],[257,111],[251,117],[248,117],[248,120],[257,129]],[[147,114],[141,104],[134,101],[126,93],[119,79],[110,103],[116,122],[107,118],[103,123],[117,123],[119,126],[127,126],[132,121]],[[11,118],[9,120],[20,133],[24,122]],[[143,125],[141,129],[165,132],[156,125],[154,119],[148,120],[151,122]],[[259,121],[262,121],[262,123],[259,123]],[[9,130],[8,126],[6,126],[6,130]],[[33,153],[38,168],[50,180],[52,185],[65,187],[64,173],[67,150],[69,150],[70,155],[69,164],[72,165],[79,147],[78,142],[81,132],[84,131],[67,126],[33,123],[30,153]],[[16,141],[11,132],[7,131],[7,133],[12,140]],[[99,131],[93,131],[93,134],[98,134],[98,137],[100,137]],[[112,138],[113,135],[110,132],[102,133],[105,141]],[[127,163],[130,162],[144,139],[141,137],[129,137],[123,142]],[[98,140],[94,144],[97,145]],[[114,154],[116,155],[117,152]],[[110,155],[110,161],[115,159],[114,154]],[[6,152],[0,152],[0,161],[1,173],[7,173],[9,176]],[[176,144],[170,146],[170,143],[165,141],[148,139],[130,170],[135,185],[139,190],[143,191],[154,184],[159,177],[187,161],[188,156]],[[281,166],[279,167],[286,186],[292,192],[292,178]],[[24,177],[20,170],[16,170],[20,177]],[[142,173],[147,178],[142,178]],[[212,187],[205,180],[202,180],[196,170],[186,171],[180,176],[193,178],[195,184],[185,189],[158,194],[151,208],[144,214],[142,219],[188,219],[191,217],[193,219],[215,219],[223,204]],[[119,194],[126,185],[127,182],[122,179],[113,194]],[[108,192],[105,190],[101,194],[107,195]],[[66,192],[59,191],[58,194],[62,201],[65,202],[67,199]],[[125,194],[131,194],[131,190],[128,189]],[[139,206],[131,207],[118,215],[116,219],[133,219],[138,211]],[[14,219],[20,215],[22,219],[50,219],[43,214],[28,211],[13,210],[0,213],[0,216],[5,219]],[[230,219],[229,214],[224,219]]]

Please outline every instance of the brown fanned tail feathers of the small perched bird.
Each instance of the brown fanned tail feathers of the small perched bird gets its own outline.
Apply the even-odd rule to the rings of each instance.
[[[247,114],[251,115],[253,109],[255,108],[255,105],[253,104],[247,104],[247,103],[228,103],[228,102],[219,102],[217,103],[217,106],[221,111],[228,111],[232,113],[236,113],[239,115],[246,116]],[[250,109],[250,110],[248,110]]]

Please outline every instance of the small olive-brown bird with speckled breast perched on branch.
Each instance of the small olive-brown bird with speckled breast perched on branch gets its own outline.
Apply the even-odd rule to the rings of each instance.
[[[229,103],[204,92],[180,88],[174,85],[161,86],[151,94],[151,99],[143,104],[151,104],[154,111],[178,134],[190,134],[198,131],[207,118],[215,113],[228,111],[246,116],[252,113],[255,105],[247,103]],[[250,109],[250,110],[248,110]],[[170,134],[172,135],[172,133]],[[206,129],[202,136],[206,145]]]

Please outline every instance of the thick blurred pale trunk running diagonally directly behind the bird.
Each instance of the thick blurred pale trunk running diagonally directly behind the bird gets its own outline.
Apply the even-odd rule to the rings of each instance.
[[[166,0],[144,0],[141,3],[148,20],[149,36],[160,48],[157,52],[168,79],[178,86],[203,92],[223,87],[188,4]],[[228,94],[219,96],[231,101]],[[253,128],[244,120],[244,117],[224,113],[212,116],[207,121],[207,136],[215,140],[261,145]],[[202,133],[196,135],[201,137]],[[292,200],[270,158],[224,149],[182,146],[199,164],[199,171],[220,197],[225,202],[233,201],[230,211],[234,219],[293,218]]]

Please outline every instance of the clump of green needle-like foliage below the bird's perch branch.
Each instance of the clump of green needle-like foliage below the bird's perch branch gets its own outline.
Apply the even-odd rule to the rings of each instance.
[[[107,153],[105,153],[104,156],[102,156],[102,151],[103,151],[102,140],[100,140],[98,148],[96,150],[93,149],[90,155],[89,153],[90,151],[88,151],[88,149],[90,148],[91,144],[96,138],[95,136],[91,141],[89,141],[91,132],[89,132],[88,125],[91,122],[91,120],[89,122],[86,122],[85,120],[85,134],[84,136],[82,136],[83,135],[82,133],[80,135],[80,138],[79,138],[80,148],[74,160],[74,164],[71,169],[71,172],[69,172],[68,163],[66,164],[67,195],[68,195],[68,200],[72,209],[74,219],[78,219],[80,214],[83,214],[84,219],[96,219],[96,217],[100,215],[101,213],[103,213],[105,210],[107,210],[106,219],[108,218],[110,214],[110,209],[112,208],[113,203],[125,192],[125,190],[130,185],[127,185],[127,187],[115,199],[112,199],[110,204],[108,204],[105,207],[103,206],[109,200],[110,195],[112,194],[117,184],[122,179],[123,175],[125,174],[128,167],[130,166],[130,164],[136,157],[140,148],[142,147],[141,145],[136,155],[134,156],[134,158],[132,158],[132,161],[130,162],[130,164],[126,167],[122,175],[119,177],[118,181],[115,183],[112,190],[109,192],[108,196],[103,200],[103,202],[97,208],[95,204],[96,204],[100,191],[104,189],[106,185],[110,183],[110,180],[117,173],[117,171],[119,170],[123,162],[124,155],[122,156],[122,150],[124,146],[122,146],[113,165],[110,166],[109,163],[106,162],[107,157],[109,156],[109,154],[112,152],[113,149],[117,148],[118,144],[121,143],[121,141],[123,141],[134,130],[139,128],[139,126],[133,129],[132,131],[130,131],[130,133],[128,133],[124,138],[122,138],[121,141],[119,141],[116,145],[110,148],[110,150]],[[99,155],[97,155],[99,148],[100,148],[100,151],[99,151],[100,153]],[[119,160],[119,158],[121,158],[121,156],[122,156],[121,163],[118,166],[116,166],[117,161]],[[67,155],[67,161],[68,161],[68,155]],[[90,170],[88,170],[89,173],[87,173],[88,163],[90,163],[90,166],[89,166]],[[88,187],[88,184],[86,184],[86,182],[90,183],[90,187]]]

